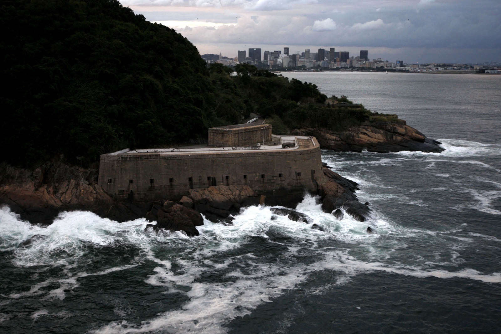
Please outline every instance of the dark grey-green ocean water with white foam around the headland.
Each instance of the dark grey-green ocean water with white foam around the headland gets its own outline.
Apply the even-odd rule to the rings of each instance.
[[[268,207],[188,238],[83,211],[34,226],[4,206],[0,332],[499,332],[501,76],[284,75],[396,113],[446,150],[323,151],[373,210],[335,220],[305,197],[297,209],[325,231]]]

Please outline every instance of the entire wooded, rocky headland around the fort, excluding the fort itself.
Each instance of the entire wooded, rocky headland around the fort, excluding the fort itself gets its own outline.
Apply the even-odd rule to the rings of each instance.
[[[9,0],[0,12],[9,32],[0,43],[0,109],[8,125],[2,138],[9,144],[0,158],[0,205],[32,223],[87,210],[119,222],[145,217],[158,233],[197,235],[201,214],[231,224],[248,205],[293,208],[302,189],[218,186],[141,202],[117,201],[97,185],[101,154],[204,140],[211,126],[238,124],[256,111],[276,134],[300,129],[294,131],[316,136],[323,149],[442,150],[395,115],[344,96],[327,99],[312,83],[245,63],[207,65],[185,37],[117,0]],[[359,220],[369,216],[356,183],[328,168],[317,189],[323,210],[336,219],[341,207]],[[277,214],[308,221],[300,213]]]

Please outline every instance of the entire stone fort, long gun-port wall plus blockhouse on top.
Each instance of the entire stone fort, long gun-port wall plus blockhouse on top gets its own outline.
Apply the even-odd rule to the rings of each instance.
[[[316,193],[323,175],[316,138],[271,132],[271,125],[238,124],[209,129],[209,144],[219,147],[103,154],[98,183],[116,198],[136,200],[179,199],[189,189],[218,185]]]

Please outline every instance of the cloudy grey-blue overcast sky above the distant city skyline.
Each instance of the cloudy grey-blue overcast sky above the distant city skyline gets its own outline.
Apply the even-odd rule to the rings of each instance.
[[[500,0],[121,0],[200,54],[319,48],[404,63],[501,62]]]

